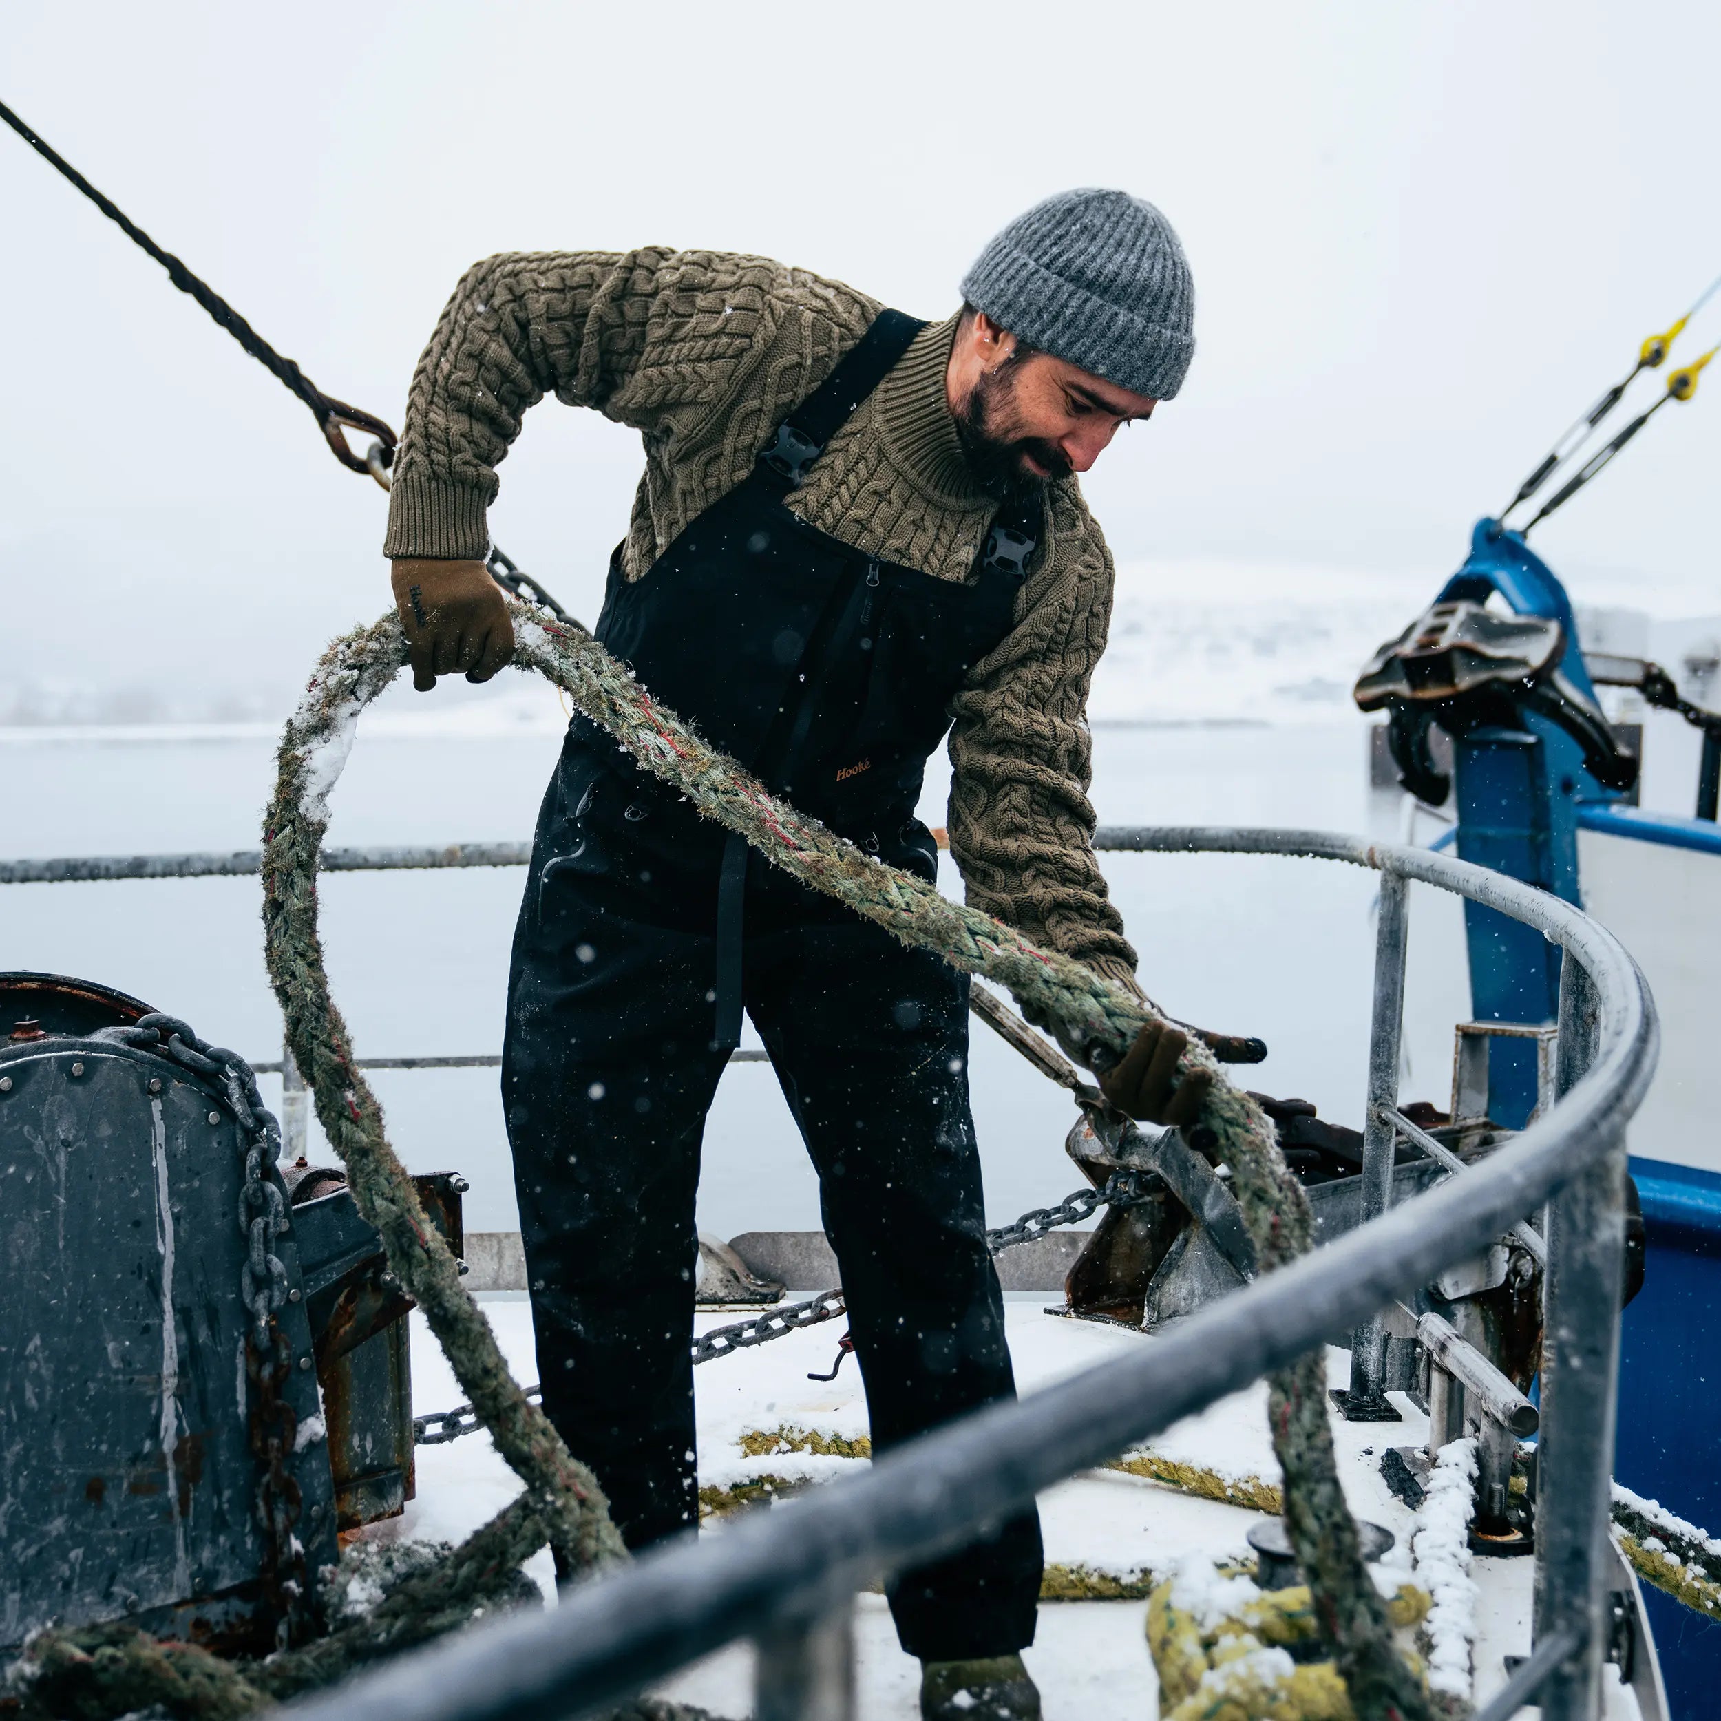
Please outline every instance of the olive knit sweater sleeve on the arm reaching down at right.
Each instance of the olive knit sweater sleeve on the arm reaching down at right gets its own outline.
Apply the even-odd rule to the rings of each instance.
[[[1139,991],[1088,800],[1088,688],[1112,616],[1112,554],[1072,485],[1052,490],[1050,525],[1017,625],[955,700],[950,852],[976,909]]]

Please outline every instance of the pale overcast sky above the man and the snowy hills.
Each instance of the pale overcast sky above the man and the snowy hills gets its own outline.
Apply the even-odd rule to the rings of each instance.
[[[1072,184],[1189,251],[1184,394],[1088,482],[1191,563],[1435,582],[1721,272],[1712,5],[361,3],[14,9],[0,98],[327,392],[399,425],[499,250],[759,251],[921,315]],[[384,497],[0,133],[0,714],[19,687],[274,714],[387,601]],[[1707,342],[1721,339],[1721,299]],[[1721,609],[1721,365],[1537,534],[1582,599]],[[539,408],[503,546],[589,620],[638,470]],[[143,709],[141,704],[138,709]]]

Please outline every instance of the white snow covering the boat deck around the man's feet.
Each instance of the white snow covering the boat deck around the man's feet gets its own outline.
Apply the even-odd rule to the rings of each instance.
[[[1026,1396],[1105,1363],[1108,1358],[1151,1344],[1153,1339],[1122,1327],[1065,1320],[1045,1311],[1048,1294],[1005,1298],[1005,1330],[1015,1361],[1017,1389]],[[537,1380],[532,1310],[523,1296],[484,1296],[484,1311],[503,1354],[521,1382]],[[460,1403],[435,1339],[413,1315],[413,1408],[422,1415]],[[699,1317],[700,1330],[735,1320],[733,1311]],[[828,1322],[771,1344],[738,1351],[694,1370],[699,1404],[699,1480],[702,1487],[733,1487],[759,1477],[785,1482],[826,1482],[857,1470],[864,1459],[812,1451],[774,1451],[749,1456],[742,1435],[781,1432],[854,1440],[867,1432],[860,1370],[848,1358],[836,1380],[809,1380],[826,1373],[836,1354],[842,1325]],[[1342,1385],[1349,1358],[1329,1351],[1329,1379]],[[1415,1523],[1380,1478],[1379,1454],[1387,1446],[1422,1446],[1427,1422],[1403,1396],[1394,1403],[1401,1423],[1346,1423],[1334,1418],[1334,1442],[1351,1509],[1385,1525],[1396,1537],[1385,1570],[1408,1576],[1408,1544]],[[761,1444],[761,1442],[752,1442]],[[1248,1482],[1279,1482],[1267,1434],[1267,1387],[1256,1384],[1222,1399],[1143,1442],[1141,1451]],[[403,1518],[377,1525],[373,1535],[458,1540],[499,1511],[518,1492],[518,1482],[496,1454],[489,1435],[473,1434],[446,1446],[418,1449],[418,1497]],[[773,1504],[793,1511],[793,1501]],[[1039,1499],[1046,1563],[1084,1566],[1115,1576],[1169,1575],[1193,1551],[1212,1559],[1251,1558],[1248,1530],[1258,1514],[1217,1501],[1193,1499],[1157,1482],[1119,1471],[1086,1471]],[[707,1523],[721,1535],[721,1523]],[[547,1599],[554,1599],[549,1551],[527,1568]],[[1485,1699],[1504,1680],[1501,1656],[1521,1654],[1528,1644],[1532,1563],[1478,1559],[1484,1585],[1477,1644],[1477,1693]],[[1034,1647],[1026,1652],[1039,1681],[1046,1721],[1151,1721],[1157,1716],[1157,1681],[1144,1640],[1141,1601],[1043,1602]],[[860,1712],[878,1721],[912,1721],[917,1714],[919,1669],[897,1647],[883,1597],[862,1595],[855,1621],[859,1644]],[[687,1669],[664,1690],[718,1714],[743,1716],[752,1702],[752,1650],[735,1645]]]

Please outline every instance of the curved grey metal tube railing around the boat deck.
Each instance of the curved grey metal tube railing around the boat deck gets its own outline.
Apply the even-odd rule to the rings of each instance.
[[[1619,1360],[1625,1126],[1654,1072],[1654,1002],[1619,941],[1558,897],[1484,867],[1318,831],[1108,828],[1096,847],[1341,860],[1380,873],[1363,1191],[1366,1222],[1210,1305],[1157,1342],[1019,1403],[995,1404],[879,1458],[866,1475],[757,1514],[716,1542],[682,1540],[516,1614],[289,1706],[301,1721],[575,1718],[750,1638],[759,1721],[854,1712],[854,1595],[950,1552],[1036,1494],[1351,1330],[1351,1399],[1385,1391],[1382,1310],[1545,1210],[1535,1650],[1489,1706],[1547,1721],[1602,1712],[1607,1489]],[[330,871],[509,866],[525,845],[334,850]],[[0,883],[243,874],[255,854],[0,864]],[[1391,1205],[1408,885],[1425,883],[1542,931],[1564,950],[1554,1103],[1509,1144]],[[389,1060],[391,1067],[429,1060]],[[1420,1144],[1420,1143],[1418,1143]],[[1451,1167],[1446,1167],[1451,1170]],[[1487,1427],[1527,1425],[1521,1394],[1423,1323],[1430,1392],[1468,1391]],[[1430,1409],[1434,1404],[1430,1403]],[[1487,1453],[1489,1440],[1484,1440]],[[1484,1458],[1487,1468],[1487,1458]]]

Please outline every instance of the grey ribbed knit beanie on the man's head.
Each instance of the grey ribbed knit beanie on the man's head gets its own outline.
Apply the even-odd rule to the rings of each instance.
[[[962,277],[1000,329],[1131,394],[1169,401],[1194,356],[1194,282],[1172,224],[1127,191],[1060,191]]]

